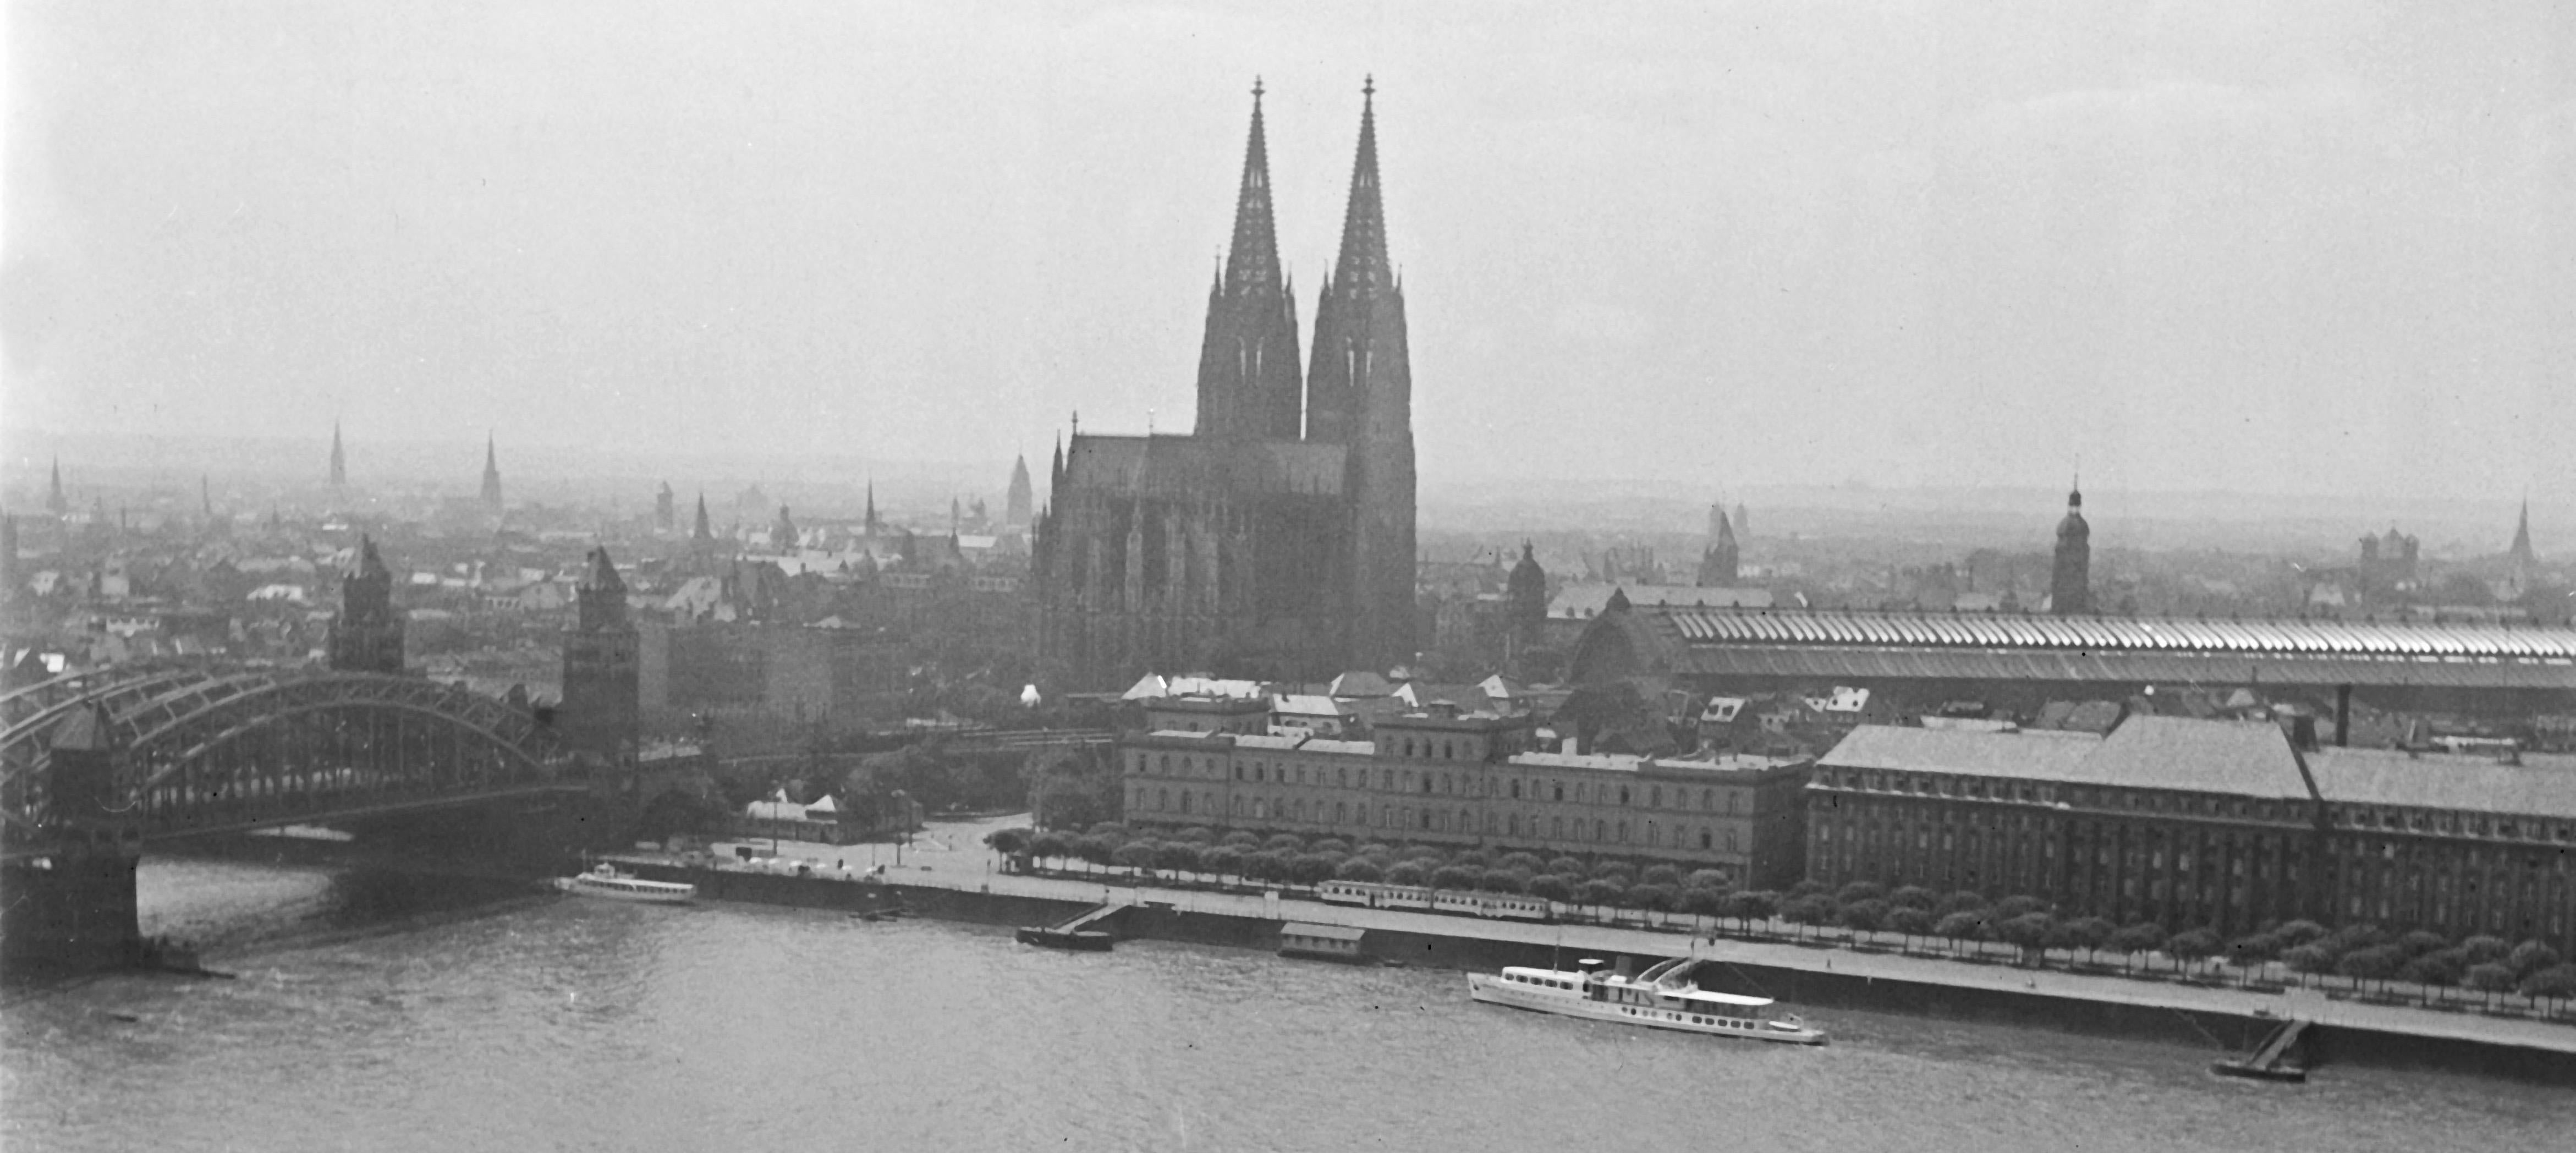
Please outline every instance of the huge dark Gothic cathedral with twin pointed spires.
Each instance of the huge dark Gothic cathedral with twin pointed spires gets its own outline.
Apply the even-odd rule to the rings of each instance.
[[[1077,685],[1141,672],[1324,679],[1412,661],[1412,371],[1373,85],[1306,365],[1255,85],[1234,244],[1208,288],[1198,427],[1077,427],[1051,481],[1033,543],[1038,646]]]

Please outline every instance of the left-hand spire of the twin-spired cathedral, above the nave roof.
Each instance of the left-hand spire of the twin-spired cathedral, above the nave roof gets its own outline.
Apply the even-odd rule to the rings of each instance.
[[[1208,286],[1208,329],[1198,347],[1198,435],[1296,440],[1298,399],[1296,299],[1293,286],[1280,281],[1262,82],[1255,80],[1244,183],[1234,196],[1234,247]]]

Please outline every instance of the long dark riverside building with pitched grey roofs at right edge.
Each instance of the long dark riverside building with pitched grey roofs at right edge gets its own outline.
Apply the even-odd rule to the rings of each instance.
[[[2038,896],[2069,916],[2494,932],[2571,947],[2576,764],[2300,749],[2275,723],[2110,736],[1855,728],[1816,762],[1811,880]]]

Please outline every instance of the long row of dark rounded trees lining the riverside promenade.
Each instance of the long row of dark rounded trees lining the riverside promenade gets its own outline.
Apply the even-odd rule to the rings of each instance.
[[[2202,988],[2311,988],[2336,1001],[2576,1024],[2576,965],[2545,942],[2494,934],[2447,939],[2372,924],[2267,924],[2221,939],[2166,934],[2151,921],[2061,916],[2048,901],[1929,888],[1801,883],[1741,890],[1723,870],[1682,872],[1625,860],[1533,852],[1358,844],[1298,834],[1185,829],[1149,836],[1118,824],[1082,834],[1002,829],[987,839],[1015,870],[1082,880],[1151,880],[1218,893],[1278,888],[1314,898],[1324,880],[1522,893],[1553,919],[1680,934],[1901,952],[1971,965],[2020,965]]]

